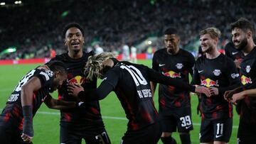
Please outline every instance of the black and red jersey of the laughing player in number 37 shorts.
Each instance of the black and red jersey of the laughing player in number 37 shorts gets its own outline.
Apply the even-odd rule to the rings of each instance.
[[[63,83],[63,86],[58,91],[59,99],[65,101],[76,101],[73,96],[68,94],[68,84],[80,84],[84,89],[95,89],[97,87],[97,79],[86,79],[84,67],[87,59],[93,52],[83,52],[82,57],[73,59],[68,56],[68,53],[56,55],[52,60],[60,60],[64,62],[66,71],[68,72],[68,81]],[[60,123],[70,123],[79,125],[87,131],[95,131],[104,128],[102,116],[100,113],[99,101],[81,102],[79,108],[67,109],[60,111]]]

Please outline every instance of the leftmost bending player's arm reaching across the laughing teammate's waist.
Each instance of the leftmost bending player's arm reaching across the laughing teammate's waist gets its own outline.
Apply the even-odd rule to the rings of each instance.
[[[63,100],[60,100],[60,99],[53,99],[53,97],[50,96],[50,94],[48,94],[46,96],[46,99],[44,99],[43,102],[50,109],[60,109],[60,110],[62,110],[62,109],[71,109],[71,108],[74,108],[76,106],[75,101],[63,101]]]

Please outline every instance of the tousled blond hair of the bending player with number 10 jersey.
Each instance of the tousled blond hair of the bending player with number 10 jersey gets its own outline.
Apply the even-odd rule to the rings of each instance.
[[[102,63],[111,57],[116,57],[116,55],[113,52],[102,52],[98,55],[88,57],[84,71],[85,75],[87,75],[87,79],[92,81],[93,77],[101,77]]]

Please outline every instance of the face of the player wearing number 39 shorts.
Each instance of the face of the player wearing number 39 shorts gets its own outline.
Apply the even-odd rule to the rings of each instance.
[[[178,52],[178,43],[178,35],[164,35],[164,46],[169,54],[174,55],[176,52]]]

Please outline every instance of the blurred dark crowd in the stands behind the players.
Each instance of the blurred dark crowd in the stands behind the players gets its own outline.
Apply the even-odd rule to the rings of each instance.
[[[252,0],[46,0],[0,6],[0,52],[17,48],[1,59],[48,57],[50,48],[65,52],[62,30],[70,22],[83,26],[89,50],[100,44],[105,51],[121,52],[122,45],[137,45],[151,35],[159,37],[151,46],[162,48],[161,35],[168,26],[180,31],[182,48],[211,26],[223,33],[220,44],[225,45],[230,22],[243,16],[255,23],[255,6]]]

